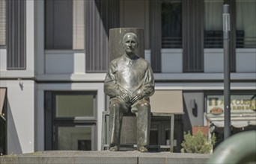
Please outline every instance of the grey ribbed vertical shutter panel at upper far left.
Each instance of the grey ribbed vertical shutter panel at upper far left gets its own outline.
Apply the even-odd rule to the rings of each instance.
[[[25,69],[26,1],[7,1],[7,69]]]

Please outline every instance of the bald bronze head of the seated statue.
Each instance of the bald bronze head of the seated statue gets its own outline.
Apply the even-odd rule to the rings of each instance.
[[[135,54],[136,49],[138,48],[137,35],[134,33],[124,34],[123,38],[123,48],[127,55]]]

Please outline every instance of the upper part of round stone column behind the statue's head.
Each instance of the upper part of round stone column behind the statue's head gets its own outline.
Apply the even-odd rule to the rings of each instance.
[[[143,28],[111,28],[109,30],[109,62],[124,54],[122,45],[124,34],[134,33],[137,35],[138,49],[136,54],[144,58],[144,29]]]

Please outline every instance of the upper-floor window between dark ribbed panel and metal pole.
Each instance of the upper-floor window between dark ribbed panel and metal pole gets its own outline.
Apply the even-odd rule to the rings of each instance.
[[[204,48],[222,48],[223,0],[204,1]]]

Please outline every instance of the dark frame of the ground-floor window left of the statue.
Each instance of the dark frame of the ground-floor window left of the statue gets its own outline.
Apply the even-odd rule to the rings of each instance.
[[[85,94],[94,95],[94,117],[55,117],[55,97],[58,94]],[[91,90],[64,90],[54,91],[46,90],[44,92],[45,97],[45,150],[57,150],[58,148],[58,127],[76,127],[85,126],[91,127],[91,149],[92,151],[97,150],[97,91]]]

